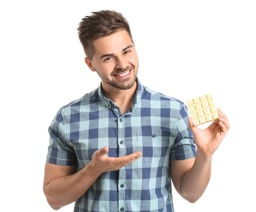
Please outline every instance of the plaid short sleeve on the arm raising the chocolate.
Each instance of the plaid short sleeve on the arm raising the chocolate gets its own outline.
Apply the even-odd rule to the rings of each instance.
[[[189,129],[189,113],[185,104],[181,106],[177,118],[177,136],[172,144],[171,160],[185,160],[196,156],[197,147],[195,146],[194,135]]]

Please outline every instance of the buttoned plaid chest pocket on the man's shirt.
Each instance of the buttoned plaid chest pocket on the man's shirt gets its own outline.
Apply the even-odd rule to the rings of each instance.
[[[167,167],[170,148],[170,133],[137,133],[138,158],[137,169],[141,172],[154,172]]]

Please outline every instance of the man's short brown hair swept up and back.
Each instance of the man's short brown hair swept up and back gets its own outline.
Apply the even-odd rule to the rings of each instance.
[[[95,54],[93,40],[98,38],[126,30],[131,38],[131,42],[134,44],[129,23],[121,13],[111,10],[101,10],[91,13],[94,15],[85,16],[77,28],[79,40],[84,48],[84,53],[90,61],[93,60]]]

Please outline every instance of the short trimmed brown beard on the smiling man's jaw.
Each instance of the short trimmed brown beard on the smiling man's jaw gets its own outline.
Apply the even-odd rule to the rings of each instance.
[[[104,81],[105,83],[107,83],[108,85],[111,85],[114,88],[118,88],[120,90],[128,90],[131,89],[134,86],[134,83],[137,79],[137,73],[139,70],[139,64],[137,67],[137,70],[135,71],[134,68],[131,69],[131,71],[133,73],[131,73],[131,76],[129,76],[128,78],[124,78],[124,79],[117,79],[115,78],[113,75],[111,75],[112,80],[108,79],[107,77],[102,76],[98,70],[95,71],[98,73],[100,79],[102,79],[102,81]],[[119,71],[119,73],[122,73],[124,71]]]

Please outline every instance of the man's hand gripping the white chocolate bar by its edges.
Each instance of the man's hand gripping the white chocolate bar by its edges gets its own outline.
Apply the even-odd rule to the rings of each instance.
[[[194,127],[192,118],[189,117],[189,129],[192,131],[195,139],[195,145],[205,157],[211,157],[218,149],[222,139],[226,136],[230,125],[227,116],[222,113],[220,108],[218,110],[218,119],[215,119],[212,124],[206,129],[202,130]]]

